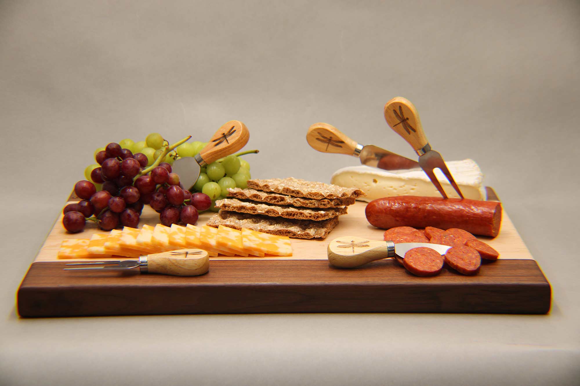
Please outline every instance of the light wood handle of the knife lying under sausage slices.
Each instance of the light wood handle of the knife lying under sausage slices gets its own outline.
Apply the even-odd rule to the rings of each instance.
[[[372,241],[356,236],[343,236],[328,243],[328,263],[340,268],[360,267],[389,256],[385,241]]]

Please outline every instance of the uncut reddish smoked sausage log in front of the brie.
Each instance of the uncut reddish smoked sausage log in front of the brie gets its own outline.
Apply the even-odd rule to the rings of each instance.
[[[377,228],[459,228],[474,235],[495,237],[502,222],[502,205],[468,198],[395,196],[369,202],[365,214]]]

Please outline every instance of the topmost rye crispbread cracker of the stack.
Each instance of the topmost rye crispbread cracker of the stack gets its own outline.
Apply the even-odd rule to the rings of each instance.
[[[365,195],[360,189],[343,188],[338,185],[300,180],[293,177],[288,177],[287,179],[248,180],[248,188],[317,200],[357,198]]]

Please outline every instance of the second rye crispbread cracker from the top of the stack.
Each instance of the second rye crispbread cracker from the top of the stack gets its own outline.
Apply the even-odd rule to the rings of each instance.
[[[273,192],[264,192],[250,188],[230,188],[227,190],[227,196],[242,200],[248,199],[258,202],[267,202],[275,205],[293,205],[321,208],[348,206],[353,205],[353,203],[356,201],[354,197],[316,200],[313,198],[294,197]]]

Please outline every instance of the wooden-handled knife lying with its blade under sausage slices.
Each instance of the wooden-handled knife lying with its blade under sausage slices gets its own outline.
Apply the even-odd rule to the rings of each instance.
[[[409,249],[427,247],[445,254],[448,245],[430,243],[397,243],[392,241],[374,241],[357,236],[342,236],[328,243],[328,262],[339,268],[360,267],[375,260],[388,257],[405,258]]]

